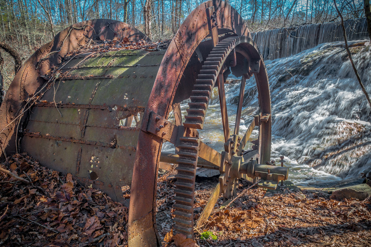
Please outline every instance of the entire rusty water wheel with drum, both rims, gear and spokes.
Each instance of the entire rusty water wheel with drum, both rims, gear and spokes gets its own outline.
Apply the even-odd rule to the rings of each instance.
[[[40,164],[71,173],[81,183],[129,205],[129,246],[156,246],[160,243],[155,220],[157,174],[162,141],[169,141],[178,148],[175,230],[191,237],[196,166],[222,174],[208,203],[212,208],[220,193],[233,194],[243,174],[256,177],[257,161],[270,160],[272,118],[263,59],[243,19],[219,0],[193,10],[166,50],[102,50],[66,57],[94,41],[114,38],[150,41],[126,23],[91,20],[63,30],[27,60],[0,108],[3,155],[26,151]],[[53,66],[58,70],[50,74]],[[229,133],[223,78],[229,67],[243,78],[240,99],[245,80],[252,75],[259,93],[259,114],[241,137],[239,127]],[[214,86],[219,86],[226,141],[222,154],[204,144],[197,132]],[[190,107],[182,123],[179,103],[188,98]],[[241,109],[242,100],[236,126]],[[168,120],[171,112],[177,115],[174,122]],[[244,154],[255,126],[259,128],[255,149]],[[255,163],[244,162],[250,158]],[[266,170],[269,165],[260,166],[259,177],[272,177]],[[276,178],[287,179],[285,171]],[[130,201],[123,192],[130,193]]]

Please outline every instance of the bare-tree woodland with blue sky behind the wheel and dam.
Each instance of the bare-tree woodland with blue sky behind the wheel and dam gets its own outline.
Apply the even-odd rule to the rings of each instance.
[[[172,39],[188,14],[204,0],[0,0],[0,76],[4,89],[18,67],[65,27],[89,19],[115,19],[134,25],[152,40]],[[226,0],[251,31],[331,22],[332,0]],[[338,1],[345,19],[364,17],[364,1]],[[13,49],[13,57],[9,50]],[[17,54],[20,54],[17,64]],[[16,59],[14,59],[14,57]],[[0,85],[1,90],[1,85]]]

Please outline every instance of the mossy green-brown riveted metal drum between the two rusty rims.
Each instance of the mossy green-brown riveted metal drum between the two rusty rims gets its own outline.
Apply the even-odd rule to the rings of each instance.
[[[118,50],[65,59],[32,108],[21,151],[129,206],[122,187],[131,185],[140,123],[164,54]]]

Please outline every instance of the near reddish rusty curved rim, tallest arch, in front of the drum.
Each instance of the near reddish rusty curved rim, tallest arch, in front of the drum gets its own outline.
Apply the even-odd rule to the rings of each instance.
[[[145,151],[146,155],[137,152],[135,156],[128,219],[128,243],[132,246],[150,246],[160,241],[156,230],[155,197],[162,139],[146,132],[149,114],[154,111],[166,118],[170,112],[171,102],[191,55],[210,33],[206,10],[212,6],[216,11],[218,28],[227,29],[238,36],[251,37],[237,11],[220,0],[207,1],[194,9],[175,34],[161,62],[139,133],[137,150]],[[260,63],[264,66],[262,61]],[[260,77],[264,81],[263,75]],[[137,205],[141,205],[140,210]]]

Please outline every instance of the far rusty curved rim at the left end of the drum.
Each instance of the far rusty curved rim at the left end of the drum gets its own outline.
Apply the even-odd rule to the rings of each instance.
[[[35,95],[46,83],[40,75],[44,75],[53,66],[58,66],[66,54],[86,45],[89,40],[113,39],[114,37],[128,37],[133,41],[141,39],[151,41],[127,23],[94,19],[67,27],[30,56],[14,77],[0,108],[0,145],[3,145],[7,154],[16,152],[16,130],[14,129],[16,123],[10,123],[23,108],[27,99]],[[26,114],[17,121],[20,121],[22,125],[26,124]]]

